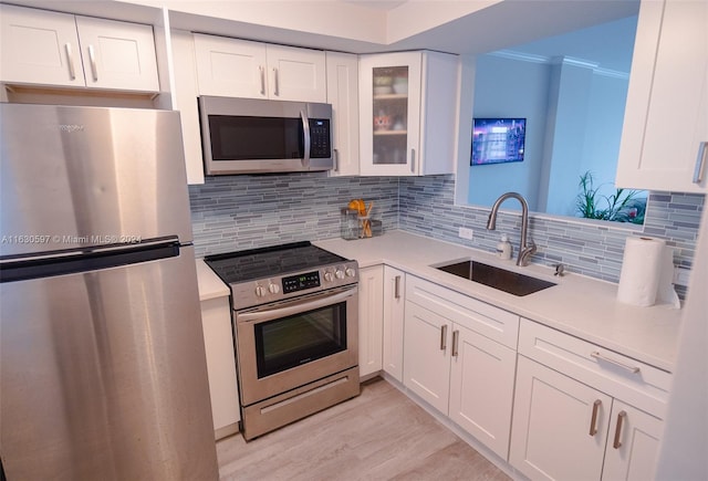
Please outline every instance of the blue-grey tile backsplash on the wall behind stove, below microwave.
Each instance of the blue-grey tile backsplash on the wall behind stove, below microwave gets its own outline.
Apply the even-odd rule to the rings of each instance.
[[[298,172],[207,177],[189,186],[197,257],[340,237],[340,209],[374,201],[384,231],[398,227],[398,179]]]

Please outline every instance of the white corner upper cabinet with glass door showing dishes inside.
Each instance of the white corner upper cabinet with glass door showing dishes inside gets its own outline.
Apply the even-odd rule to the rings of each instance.
[[[458,61],[438,52],[361,55],[361,174],[455,171]]]

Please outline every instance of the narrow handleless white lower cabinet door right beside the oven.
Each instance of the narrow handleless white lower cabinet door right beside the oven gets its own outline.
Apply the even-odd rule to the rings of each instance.
[[[358,375],[360,378],[382,369],[384,268],[358,272]]]

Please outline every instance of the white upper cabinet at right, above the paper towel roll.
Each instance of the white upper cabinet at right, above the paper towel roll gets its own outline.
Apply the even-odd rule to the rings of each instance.
[[[708,2],[642,2],[617,186],[707,191],[707,25]]]

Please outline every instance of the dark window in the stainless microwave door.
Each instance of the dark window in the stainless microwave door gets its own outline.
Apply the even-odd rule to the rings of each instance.
[[[304,157],[302,119],[209,115],[214,160],[268,160]]]

